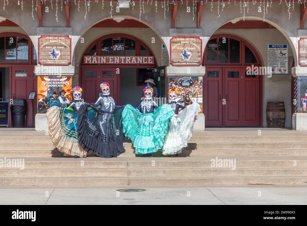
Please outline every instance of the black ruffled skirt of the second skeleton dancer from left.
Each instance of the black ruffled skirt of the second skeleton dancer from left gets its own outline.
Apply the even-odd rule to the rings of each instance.
[[[117,157],[125,152],[122,110],[123,107],[115,113],[104,113],[84,103],[78,111],[78,140],[81,147],[89,153],[105,158]]]

